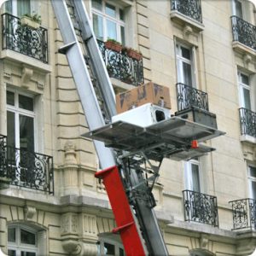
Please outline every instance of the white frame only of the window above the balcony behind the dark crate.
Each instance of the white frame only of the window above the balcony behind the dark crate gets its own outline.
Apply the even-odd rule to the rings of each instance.
[[[195,67],[195,47],[194,46],[189,46],[187,44],[182,44],[180,42],[176,42],[176,62],[177,62],[177,83],[185,83],[184,79],[184,73],[183,73],[183,62],[187,63],[191,67],[191,82],[192,82],[192,87],[196,88],[196,67]],[[182,49],[189,49],[191,60],[186,59],[182,55]],[[189,85],[189,84],[186,84]]]

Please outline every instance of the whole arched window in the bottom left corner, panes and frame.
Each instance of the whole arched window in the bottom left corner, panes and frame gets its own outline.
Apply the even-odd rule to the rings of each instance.
[[[9,225],[8,228],[8,255],[9,256],[37,256],[37,230],[24,225]]]

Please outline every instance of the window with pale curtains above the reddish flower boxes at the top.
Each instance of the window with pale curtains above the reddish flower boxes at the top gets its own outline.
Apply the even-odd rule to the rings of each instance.
[[[125,11],[114,2],[92,0],[92,23],[96,38],[115,39],[125,44]]]

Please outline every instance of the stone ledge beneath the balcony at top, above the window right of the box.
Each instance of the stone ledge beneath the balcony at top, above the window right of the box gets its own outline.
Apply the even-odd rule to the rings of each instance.
[[[189,16],[183,15],[177,10],[171,11],[171,20],[180,24],[182,26],[192,26],[195,32],[201,32],[204,30],[205,26],[201,22],[190,18]]]

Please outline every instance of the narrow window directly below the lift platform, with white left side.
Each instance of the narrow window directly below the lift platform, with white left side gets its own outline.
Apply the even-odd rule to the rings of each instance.
[[[200,162],[198,158],[185,163],[186,189],[201,192]]]

